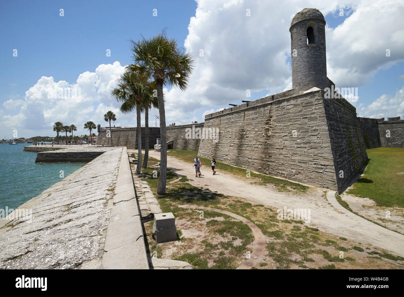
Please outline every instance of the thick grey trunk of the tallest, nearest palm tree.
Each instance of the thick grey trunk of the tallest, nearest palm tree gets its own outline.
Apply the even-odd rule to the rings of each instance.
[[[158,180],[157,194],[166,194],[167,181],[167,137],[166,112],[164,110],[163,83],[157,82],[158,111],[160,113],[160,179]]]

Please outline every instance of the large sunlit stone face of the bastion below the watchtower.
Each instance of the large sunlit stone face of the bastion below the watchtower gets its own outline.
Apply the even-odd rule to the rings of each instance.
[[[337,190],[324,91],[293,93],[206,115],[204,128],[219,128],[219,141],[202,139],[199,155]]]

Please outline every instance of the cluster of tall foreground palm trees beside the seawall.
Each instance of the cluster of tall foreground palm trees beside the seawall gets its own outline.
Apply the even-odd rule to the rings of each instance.
[[[138,158],[137,173],[141,173],[141,112],[145,112],[145,159],[143,168],[147,167],[149,152],[149,108],[155,107],[160,113],[160,177],[158,194],[166,193],[167,179],[167,141],[166,141],[166,117],[164,110],[163,86],[178,86],[181,90],[187,88],[189,75],[192,72],[194,61],[189,53],[180,48],[177,41],[168,38],[164,31],[161,34],[138,42],[131,41],[133,64],[126,66],[126,71],[120,76],[117,87],[112,90],[112,95],[122,103],[120,111],[129,113],[136,110]],[[109,121],[115,115],[104,115],[104,120]],[[95,128],[95,126],[94,126]],[[111,131],[112,132],[112,131]],[[90,131],[91,134],[91,131]],[[111,134],[112,145],[112,134]]]

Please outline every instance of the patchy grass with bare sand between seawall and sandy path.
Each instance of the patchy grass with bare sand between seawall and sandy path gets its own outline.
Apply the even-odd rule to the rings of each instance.
[[[191,158],[194,158],[193,154],[191,153]],[[202,162],[204,161],[202,160]],[[202,164],[206,164],[206,162]],[[357,243],[358,246],[354,246],[344,237],[338,238],[330,236],[330,234],[324,234],[318,228],[301,225],[300,221],[279,221],[276,210],[268,206],[253,204],[242,198],[212,192],[206,186],[197,187],[191,185],[185,177],[175,183],[170,183],[167,187],[166,195],[158,195],[156,194],[158,178],[152,177],[153,170],[142,169],[143,173],[148,175],[145,181],[149,183],[151,190],[156,195],[163,213],[172,212],[177,219],[186,220],[192,224],[200,220],[199,211],[179,207],[179,205],[183,204],[192,204],[230,211],[255,223],[261,232],[269,237],[265,250],[267,251],[266,259],[270,259],[270,262],[258,264],[255,268],[272,266],[273,264],[278,269],[296,268],[296,266],[307,269],[313,265],[318,267],[319,264],[313,255],[320,255],[329,263],[329,265],[318,267],[319,269],[341,268],[341,264],[344,262],[343,267],[349,265],[350,268],[354,268],[355,266],[353,265],[359,260],[352,257],[350,251],[364,251],[359,246],[360,243]],[[177,175],[173,171],[168,171],[167,174],[168,181],[181,177],[181,175]],[[181,230],[178,230],[178,239],[187,248],[177,249],[169,258],[188,262],[196,269],[237,268],[241,261],[245,260],[247,246],[253,241],[250,228],[228,215],[208,210],[203,212],[204,219],[209,219],[206,222],[208,230],[206,234],[215,235],[215,238],[219,236],[224,241],[210,242],[210,236],[206,236],[201,242],[194,242],[193,238],[182,236]],[[217,217],[223,217],[224,220],[219,220]],[[150,222],[147,226],[146,234],[151,233],[152,225],[152,222]],[[237,244],[235,240],[238,241]],[[341,246],[341,244],[344,246]],[[329,248],[328,251],[325,251],[318,246],[328,246]],[[191,247],[196,249],[191,249]],[[166,248],[164,248],[165,252],[167,251]],[[150,239],[148,241],[147,251],[149,253],[156,251],[157,256],[162,257],[162,246],[154,242],[154,240]],[[347,253],[346,256],[348,257],[339,258],[340,251]],[[297,255],[298,257],[296,258]],[[401,261],[395,255],[377,251],[368,253],[368,257],[377,257],[375,261],[383,261],[384,258]]]

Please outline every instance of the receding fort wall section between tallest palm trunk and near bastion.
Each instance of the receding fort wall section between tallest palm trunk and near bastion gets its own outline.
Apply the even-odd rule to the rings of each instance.
[[[173,141],[172,148],[174,150],[197,151],[201,141],[199,138],[200,135],[197,135],[197,133],[198,129],[203,129],[203,127],[204,123],[167,127],[167,142],[170,143]],[[194,137],[192,136],[193,131],[196,131],[196,133],[194,133]],[[191,134],[189,134],[189,132],[191,132]]]

